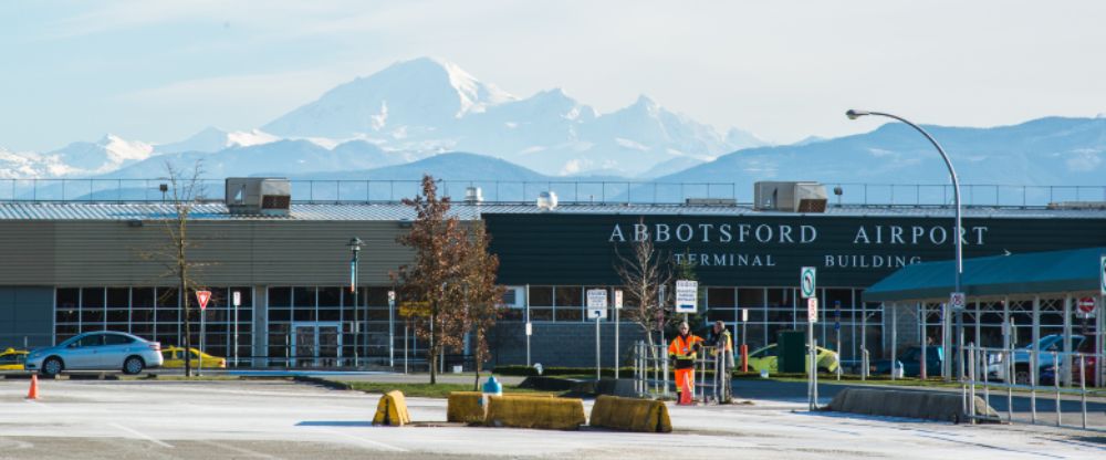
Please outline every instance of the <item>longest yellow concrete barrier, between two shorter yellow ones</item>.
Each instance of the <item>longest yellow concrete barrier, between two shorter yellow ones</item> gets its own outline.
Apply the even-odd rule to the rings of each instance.
[[[489,427],[574,430],[587,422],[584,401],[549,396],[492,396],[488,402]]]

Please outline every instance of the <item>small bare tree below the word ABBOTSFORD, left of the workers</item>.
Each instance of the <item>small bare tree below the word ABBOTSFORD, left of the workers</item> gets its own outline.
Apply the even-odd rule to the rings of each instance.
[[[636,302],[636,305],[623,310],[623,317],[641,327],[650,353],[655,353],[653,333],[664,332],[668,316],[665,309],[667,302],[660,299],[659,291],[660,286],[672,281],[670,264],[655,250],[649,238],[635,239],[630,243],[629,255],[622,254],[615,247],[615,273],[622,280],[628,300]]]

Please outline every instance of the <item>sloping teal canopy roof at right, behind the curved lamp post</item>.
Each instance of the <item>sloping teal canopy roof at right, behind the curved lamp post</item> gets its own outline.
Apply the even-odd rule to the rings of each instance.
[[[1106,248],[1032,252],[964,260],[961,289],[969,297],[1099,292]],[[954,262],[907,265],[864,291],[865,302],[942,301],[953,291]]]

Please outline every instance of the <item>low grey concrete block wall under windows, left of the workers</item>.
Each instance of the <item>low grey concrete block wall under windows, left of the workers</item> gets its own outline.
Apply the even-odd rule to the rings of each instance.
[[[492,365],[526,364],[526,325],[523,322],[500,322],[494,335],[489,337]],[[599,330],[602,366],[615,364],[615,324],[603,323]],[[622,323],[618,335],[620,365],[632,363],[634,344],[645,339],[641,328],[634,323]],[[550,367],[594,367],[595,323],[533,323],[530,337],[530,362]]]

